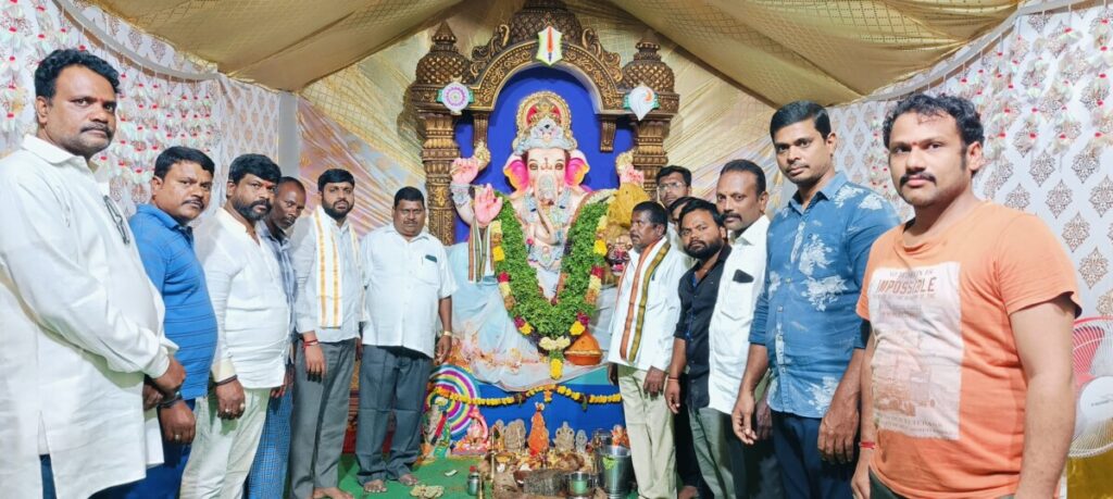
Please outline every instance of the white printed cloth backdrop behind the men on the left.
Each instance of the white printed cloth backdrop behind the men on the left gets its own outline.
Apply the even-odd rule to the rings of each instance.
[[[114,199],[128,213],[150,198],[155,158],[170,146],[204,150],[217,164],[209,211],[224,199],[227,166],[245,153],[275,157],[278,140],[278,95],[230,80],[187,60],[167,43],[78,3],[75,20],[49,0],[4,0],[0,4],[0,156],[19,148],[35,134],[35,69],[58,48],[80,48],[120,71],[117,131],[112,145],[92,158]],[[98,39],[92,27],[132,55],[120,53]],[[185,79],[161,75],[170,68],[196,75]]]

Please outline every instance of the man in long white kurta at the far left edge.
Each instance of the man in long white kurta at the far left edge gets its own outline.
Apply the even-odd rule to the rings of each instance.
[[[162,456],[159,438],[144,440],[144,375],[166,398],[185,379],[131,231],[88,162],[111,141],[118,87],[96,56],[51,52],[35,72],[38,131],[0,160],[7,497],[89,497],[144,478]]]

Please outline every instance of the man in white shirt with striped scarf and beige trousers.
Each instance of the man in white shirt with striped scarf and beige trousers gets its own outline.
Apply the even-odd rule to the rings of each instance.
[[[608,362],[622,393],[638,496],[676,497],[672,413],[664,404],[664,371],[680,315],[677,285],[688,271],[683,248],[666,238],[668,212],[647,200],[633,207],[633,251],[619,280]]]

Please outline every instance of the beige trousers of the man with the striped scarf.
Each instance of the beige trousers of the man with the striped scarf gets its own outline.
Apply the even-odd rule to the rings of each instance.
[[[633,474],[638,478],[638,497],[672,499],[677,497],[672,412],[664,404],[664,393],[649,397],[642,390],[646,374],[647,371],[619,365],[619,392],[630,436]]]

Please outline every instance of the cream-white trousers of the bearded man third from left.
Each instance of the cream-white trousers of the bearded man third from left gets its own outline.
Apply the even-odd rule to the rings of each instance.
[[[244,389],[244,414],[217,417],[216,393],[197,399],[197,434],[181,476],[181,499],[239,499],[266,421],[270,389]]]

